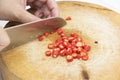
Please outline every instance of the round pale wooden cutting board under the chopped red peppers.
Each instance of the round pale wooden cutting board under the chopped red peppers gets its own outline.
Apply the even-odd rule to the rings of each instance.
[[[92,46],[88,61],[46,57],[50,35],[1,54],[4,80],[120,80],[120,14],[107,8],[82,2],[58,2],[61,17],[70,16],[63,27],[77,32]],[[97,42],[97,43],[96,43]]]

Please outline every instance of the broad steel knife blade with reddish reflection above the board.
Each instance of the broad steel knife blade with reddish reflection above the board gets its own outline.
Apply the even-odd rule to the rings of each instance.
[[[11,43],[3,51],[35,40],[39,35],[54,31],[57,28],[63,27],[65,24],[66,21],[64,19],[53,17],[5,28]]]

